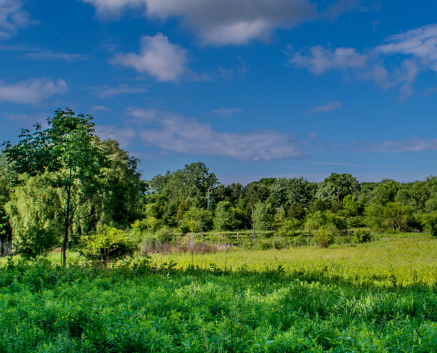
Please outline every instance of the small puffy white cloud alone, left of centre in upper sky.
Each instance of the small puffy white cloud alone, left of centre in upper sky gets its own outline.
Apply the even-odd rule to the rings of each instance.
[[[170,43],[164,34],[141,38],[140,54],[115,54],[112,64],[134,68],[143,74],[156,77],[158,81],[178,81],[187,72],[187,50]]]

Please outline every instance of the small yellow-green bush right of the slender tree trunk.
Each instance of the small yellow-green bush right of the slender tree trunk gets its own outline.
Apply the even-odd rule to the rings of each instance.
[[[108,266],[111,261],[132,256],[137,250],[129,234],[107,227],[103,232],[81,237],[79,253],[86,259]]]

